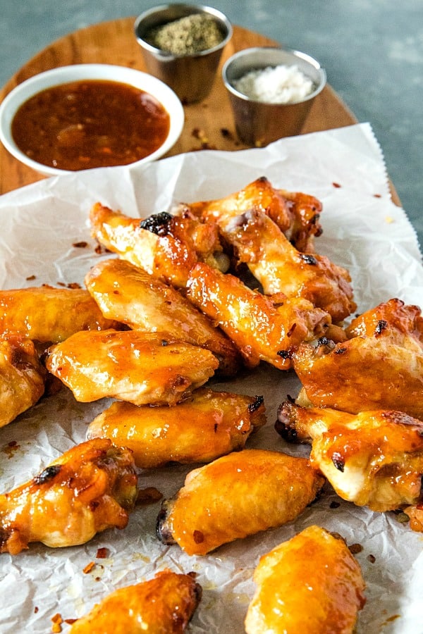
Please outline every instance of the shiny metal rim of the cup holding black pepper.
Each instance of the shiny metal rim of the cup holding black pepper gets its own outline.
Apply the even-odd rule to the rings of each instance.
[[[216,44],[216,46],[212,46],[211,49],[205,49],[204,51],[199,51],[198,53],[176,55],[169,51],[163,51],[161,49],[158,49],[157,46],[153,46],[152,44],[149,44],[149,42],[147,42],[146,39],[144,39],[143,37],[139,35],[139,32],[138,32],[139,27],[142,21],[145,20],[146,18],[150,18],[152,15],[156,13],[157,14],[164,13],[164,11],[169,9],[172,9],[173,11],[177,11],[178,9],[179,10],[187,9],[188,11],[190,11],[190,13],[186,13],[186,14],[184,13],[183,15],[180,15],[180,18],[185,18],[185,17],[188,17],[188,15],[194,15],[195,13],[200,13],[200,14],[207,13],[208,15],[212,15],[214,18],[219,20],[226,27],[226,30],[227,30],[226,36],[223,38],[221,42],[219,42],[219,44]],[[180,18],[174,18],[174,19],[178,20]],[[166,24],[166,22],[164,24]],[[142,13],[140,13],[140,15],[138,15],[137,18],[135,19],[134,33],[135,33],[135,37],[137,39],[138,44],[140,44],[140,46],[145,48],[147,51],[150,51],[151,53],[153,53],[154,55],[158,57],[163,57],[166,59],[178,59],[178,58],[184,58],[184,57],[202,57],[202,56],[206,56],[211,53],[214,53],[214,51],[219,51],[220,49],[223,49],[224,46],[228,44],[229,40],[233,36],[233,25],[231,23],[231,20],[229,20],[228,16],[225,15],[223,11],[219,11],[219,9],[216,9],[213,6],[208,6],[207,4],[190,4],[185,2],[176,2],[175,4],[159,4],[158,6],[153,6],[152,8],[149,8],[146,11],[143,11]]]

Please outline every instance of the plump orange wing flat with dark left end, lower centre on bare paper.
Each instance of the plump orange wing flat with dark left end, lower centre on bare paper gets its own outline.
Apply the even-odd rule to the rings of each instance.
[[[176,497],[164,501],[157,534],[188,554],[293,521],[324,478],[305,458],[264,449],[233,452],[188,473]]]

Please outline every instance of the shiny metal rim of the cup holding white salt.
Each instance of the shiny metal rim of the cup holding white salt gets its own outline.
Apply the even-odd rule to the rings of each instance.
[[[298,101],[290,101],[287,104],[270,103],[269,101],[260,101],[259,99],[252,99],[252,97],[248,97],[245,93],[240,92],[235,87],[233,87],[231,82],[228,80],[228,77],[227,77],[228,68],[229,66],[231,66],[231,63],[233,63],[233,61],[236,61],[237,59],[241,57],[245,57],[247,55],[257,54],[258,52],[261,52],[261,51],[275,51],[276,53],[283,52],[290,56],[293,56],[293,58],[298,58],[298,59],[301,59],[302,61],[307,62],[310,66],[313,66],[313,68],[317,70],[317,72],[319,73],[319,84],[316,86],[316,88],[312,92],[307,94],[307,97],[304,97],[304,99],[299,99]],[[266,68],[267,66],[272,66],[272,64],[266,63],[266,65],[263,65],[263,66],[260,66],[260,65],[251,66],[250,70]],[[294,66],[294,63],[291,64],[290,66]],[[246,70],[245,72],[248,73],[249,70]],[[297,49],[291,49],[289,46],[282,46],[282,45],[281,46],[252,46],[248,49],[242,49],[241,51],[237,51],[236,53],[231,55],[231,57],[229,57],[226,60],[226,62],[223,64],[221,76],[222,76],[223,84],[225,85],[226,89],[228,89],[229,92],[235,95],[235,97],[238,97],[239,99],[243,99],[243,101],[250,101],[252,104],[260,104],[261,106],[295,106],[295,104],[304,104],[306,101],[310,101],[310,99],[314,99],[314,97],[317,97],[317,95],[326,86],[326,81],[327,81],[326,70],[323,68],[323,66],[320,65],[317,59],[315,59],[314,57],[312,57],[311,55],[307,53],[302,53],[302,51],[298,51]]]

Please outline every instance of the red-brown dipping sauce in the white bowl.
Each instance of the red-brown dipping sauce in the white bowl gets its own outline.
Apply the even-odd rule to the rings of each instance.
[[[170,117],[151,94],[110,80],[79,80],[30,97],[12,121],[32,160],[61,170],[128,165],[156,151]]]

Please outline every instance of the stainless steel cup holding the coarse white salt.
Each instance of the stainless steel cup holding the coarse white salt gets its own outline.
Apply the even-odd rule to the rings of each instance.
[[[312,80],[312,93],[293,104],[269,104],[250,99],[233,87],[233,82],[250,70],[280,65],[297,66]],[[235,53],[224,64],[222,78],[231,99],[238,137],[245,144],[257,147],[281,137],[298,135],[315,97],[326,85],[326,73],[319,62],[300,51],[283,46],[258,46]]]

